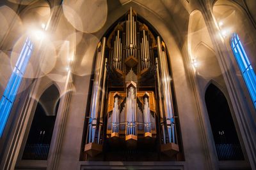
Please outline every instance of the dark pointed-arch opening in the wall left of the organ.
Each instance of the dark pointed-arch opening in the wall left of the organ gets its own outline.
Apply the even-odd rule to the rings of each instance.
[[[47,160],[59,103],[58,89],[51,85],[36,106],[22,159]]]

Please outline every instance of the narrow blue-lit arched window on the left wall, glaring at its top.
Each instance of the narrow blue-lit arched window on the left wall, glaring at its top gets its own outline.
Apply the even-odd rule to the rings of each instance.
[[[4,127],[32,52],[33,43],[31,43],[31,40],[27,38],[0,101],[0,138],[2,137]]]

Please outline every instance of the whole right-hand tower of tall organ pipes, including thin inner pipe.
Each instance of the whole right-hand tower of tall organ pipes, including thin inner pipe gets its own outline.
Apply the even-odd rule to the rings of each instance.
[[[157,65],[157,85],[158,85],[158,96],[159,96],[159,112],[161,118],[161,128],[163,131],[163,142],[165,143],[177,143],[175,138],[175,122],[173,115],[173,106],[172,106],[172,89],[170,85],[170,74],[168,73],[168,65],[166,60],[166,52],[162,50],[162,41],[157,37],[157,53],[159,57],[156,58]],[[162,94],[163,92],[163,94]],[[162,97],[163,96],[163,97]],[[162,103],[163,99],[163,103]],[[162,109],[164,108],[164,110]],[[163,122],[163,120],[166,120]],[[165,128],[166,127],[166,128]],[[165,136],[165,129],[168,132],[168,136]],[[168,139],[168,141],[166,141]]]

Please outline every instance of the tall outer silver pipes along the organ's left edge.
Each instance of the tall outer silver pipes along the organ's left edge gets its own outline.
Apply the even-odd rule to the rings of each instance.
[[[87,143],[95,142],[95,132],[97,129],[97,119],[100,110],[100,89],[102,89],[102,73],[104,72],[104,53],[105,53],[106,38],[102,38],[102,43],[99,43],[97,50],[97,60],[95,67],[95,80],[93,82],[92,101],[90,107],[90,117],[88,124]]]

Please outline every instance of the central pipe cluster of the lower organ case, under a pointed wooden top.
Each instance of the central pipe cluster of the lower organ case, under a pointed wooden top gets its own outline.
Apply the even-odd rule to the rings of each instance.
[[[137,135],[137,101],[136,89],[129,87],[126,97],[126,135]]]

